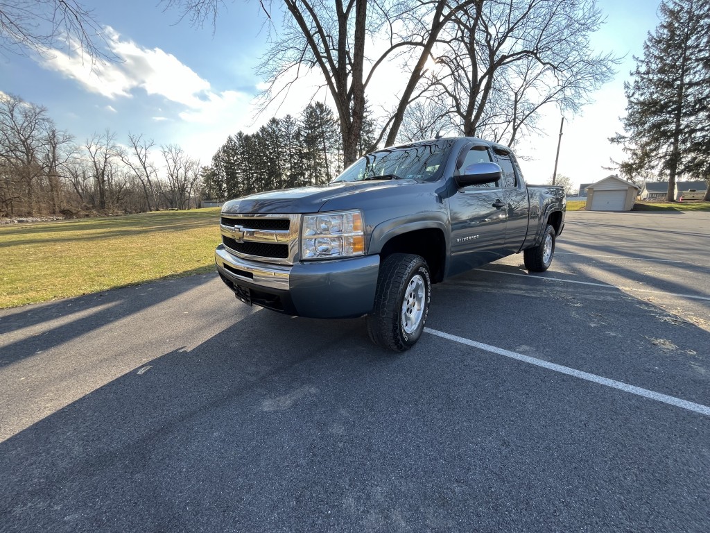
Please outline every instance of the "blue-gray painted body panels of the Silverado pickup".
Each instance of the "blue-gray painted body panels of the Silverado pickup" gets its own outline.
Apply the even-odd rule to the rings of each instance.
[[[473,146],[487,146],[491,161],[496,151],[510,149],[481,139],[461,137],[423,141],[446,146],[442,167],[430,179],[376,180],[331,183],[320,187],[275,190],[231,200],[226,214],[307,214],[361,210],[366,256],[352,259],[295,261],[290,268],[288,301],[300,316],[345,318],[373,308],[380,253],[391,239],[417,230],[435,229],[444,237],[444,279],[540,243],[553,212],[562,212],[562,188],[526,186],[461,188],[454,178]],[[515,163],[517,165],[517,163]],[[517,166],[516,166],[517,168]],[[519,172],[519,168],[518,171]],[[522,205],[525,203],[525,205]],[[525,213],[508,231],[511,212]],[[515,242],[513,242],[515,241]],[[401,251],[401,250],[400,250]],[[265,259],[268,263],[268,259]],[[245,283],[249,285],[249,283]],[[293,310],[292,310],[293,311]]]

